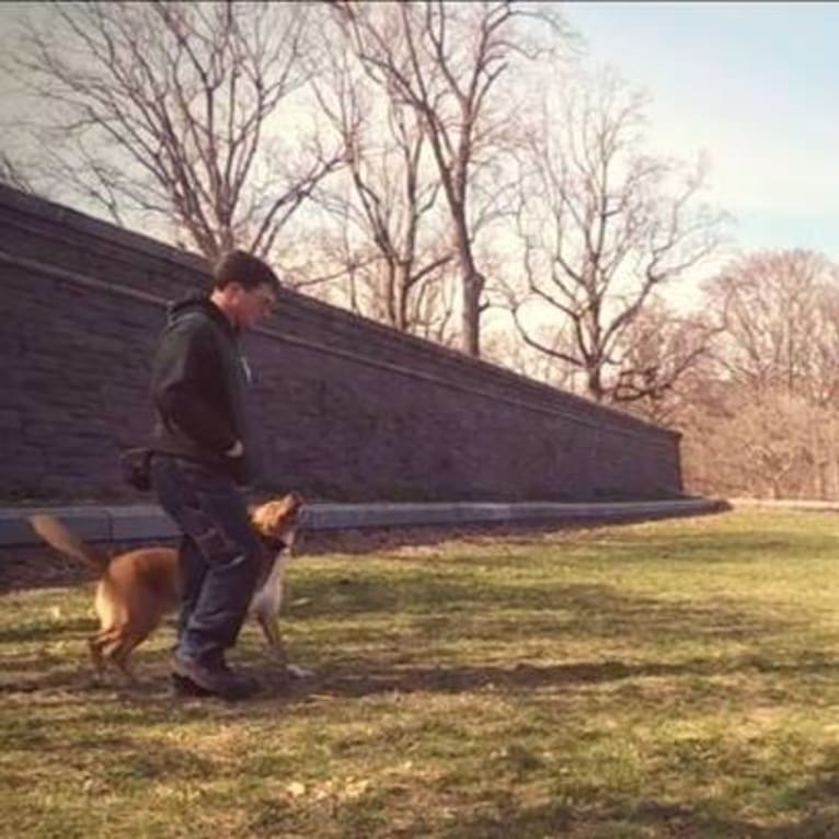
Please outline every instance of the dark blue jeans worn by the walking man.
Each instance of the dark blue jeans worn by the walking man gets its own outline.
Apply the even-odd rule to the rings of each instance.
[[[248,613],[265,549],[233,482],[194,461],[154,455],[151,483],[183,531],[176,654],[223,662]]]

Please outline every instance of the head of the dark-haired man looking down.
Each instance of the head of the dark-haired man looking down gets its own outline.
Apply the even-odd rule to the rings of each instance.
[[[225,254],[212,272],[212,300],[240,329],[252,329],[277,304],[279,279],[260,258],[244,251]]]

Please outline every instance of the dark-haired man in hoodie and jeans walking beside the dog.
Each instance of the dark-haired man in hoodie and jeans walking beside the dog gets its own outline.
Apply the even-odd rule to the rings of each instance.
[[[209,296],[171,307],[154,354],[151,482],[183,531],[172,658],[181,692],[243,699],[258,689],[225,660],[267,561],[241,492],[254,478],[256,452],[245,394],[250,372],[238,337],[274,309],[278,288],[264,262],[229,253],[214,271]]]

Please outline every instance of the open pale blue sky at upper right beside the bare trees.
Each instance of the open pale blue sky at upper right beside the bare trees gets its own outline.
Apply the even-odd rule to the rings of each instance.
[[[710,163],[743,251],[839,261],[839,4],[566,2],[589,57],[650,94],[663,154]]]

